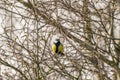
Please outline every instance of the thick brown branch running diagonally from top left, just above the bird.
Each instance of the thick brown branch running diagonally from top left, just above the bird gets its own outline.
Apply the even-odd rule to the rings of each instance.
[[[77,43],[79,43],[82,47],[86,48],[88,51],[93,51],[93,52],[95,52],[95,55],[99,55],[99,58],[100,58],[102,61],[104,61],[105,63],[107,63],[107,64],[110,65],[111,67],[113,67],[113,68],[115,68],[115,69],[117,69],[117,70],[120,70],[120,69],[118,68],[118,66],[114,63],[114,61],[108,60],[104,55],[102,55],[101,53],[99,53],[99,52],[94,48],[94,45],[90,45],[89,43],[84,42],[84,41],[80,40],[79,38],[75,37],[74,35],[72,35],[71,33],[69,33],[69,32],[64,28],[64,26],[62,26],[62,25],[61,25],[60,23],[58,23],[56,20],[51,19],[51,18],[50,18],[51,16],[50,16],[49,14],[38,10],[38,9],[35,8],[35,6],[33,6],[32,3],[30,3],[30,2],[28,3],[28,2],[25,2],[25,1],[23,1],[23,0],[21,0],[21,1],[18,0],[18,1],[19,1],[20,3],[22,3],[25,7],[31,9],[32,11],[34,11],[34,9],[36,9],[37,14],[38,14],[39,16],[41,16],[41,17],[46,21],[47,24],[52,25],[52,26],[54,26],[54,27],[57,27],[58,29],[60,29],[61,33],[62,33],[64,36],[72,39],[73,41],[75,41],[75,42],[77,42]],[[102,21],[101,21],[101,24],[102,24]],[[105,26],[103,25],[103,27],[105,27]],[[107,33],[108,33],[108,32],[107,32]]]

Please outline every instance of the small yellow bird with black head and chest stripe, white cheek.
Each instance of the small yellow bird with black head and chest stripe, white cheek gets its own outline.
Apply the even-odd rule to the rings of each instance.
[[[55,42],[52,45],[52,51],[54,54],[64,55],[63,51],[63,45],[60,42],[60,39],[56,39]]]

